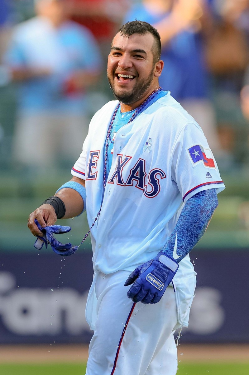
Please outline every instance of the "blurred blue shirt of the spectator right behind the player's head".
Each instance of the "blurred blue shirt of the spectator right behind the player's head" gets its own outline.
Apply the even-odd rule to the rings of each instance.
[[[126,14],[123,23],[137,19],[154,26],[167,14],[151,14],[144,5],[135,5]],[[163,89],[170,90],[173,98],[178,101],[207,98],[209,90],[200,34],[191,29],[180,32],[162,47],[161,59],[164,68],[159,83]]]

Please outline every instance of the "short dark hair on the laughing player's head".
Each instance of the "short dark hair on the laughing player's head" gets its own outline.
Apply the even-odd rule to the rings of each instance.
[[[124,24],[119,29],[121,35],[124,36],[131,36],[132,34],[140,34],[145,35],[147,33],[151,33],[154,36],[154,63],[160,60],[161,51],[162,51],[162,44],[160,34],[156,28],[154,28],[151,24],[145,21],[130,21]]]

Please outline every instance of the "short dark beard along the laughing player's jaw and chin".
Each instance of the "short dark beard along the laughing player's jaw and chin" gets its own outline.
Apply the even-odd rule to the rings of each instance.
[[[118,92],[114,87],[114,80],[108,76],[108,73],[107,73],[107,78],[108,78],[110,88],[115,98],[121,103],[129,105],[129,104],[135,103],[140,98],[142,98],[142,96],[144,96],[144,93],[150,87],[151,82],[153,81],[153,78],[154,78],[154,67],[151,69],[150,74],[148,75],[146,79],[140,82],[137,82],[135,84],[131,92],[126,92],[125,90],[122,92],[122,89],[120,89],[120,91]]]

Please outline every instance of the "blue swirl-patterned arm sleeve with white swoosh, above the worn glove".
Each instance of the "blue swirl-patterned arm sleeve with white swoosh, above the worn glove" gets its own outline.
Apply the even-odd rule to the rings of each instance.
[[[179,263],[199,242],[218,206],[215,189],[203,190],[186,202],[177,220],[175,229],[161,250]],[[174,253],[177,236],[177,254]]]

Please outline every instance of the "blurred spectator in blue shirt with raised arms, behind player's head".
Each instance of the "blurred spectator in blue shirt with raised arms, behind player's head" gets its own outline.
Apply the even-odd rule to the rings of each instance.
[[[129,10],[123,21],[135,18],[153,24],[159,31],[165,64],[160,85],[170,90],[200,124],[217,157],[218,135],[203,44],[203,32],[211,22],[207,1],[143,0]]]

